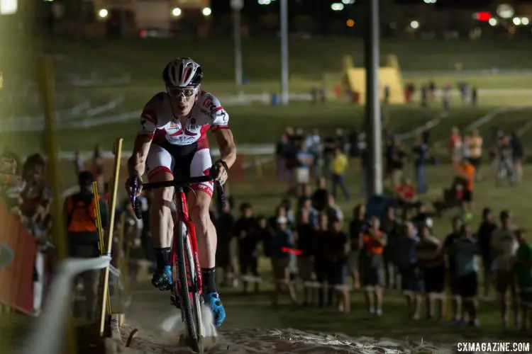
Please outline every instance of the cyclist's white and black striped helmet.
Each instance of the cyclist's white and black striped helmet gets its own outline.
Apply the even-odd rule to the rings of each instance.
[[[162,71],[162,79],[167,87],[197,87],[201,84],[201,78],[201,67],[189,57],[172,60]]]

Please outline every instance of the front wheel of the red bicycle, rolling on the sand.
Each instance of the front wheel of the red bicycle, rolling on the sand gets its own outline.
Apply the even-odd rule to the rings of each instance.
[[[179,297],[181,298],[181,311],[184,315],[187,333],[192,349],[201,352],[201,302],[198,306],[199,292],[191,291],[196,288],[194,262],[191,262],[192,247],[190,246],[187,227],[184,222],[179,222],[175,237],[177,274],[179,278]],[[187,267],[188,265],[188,267]],[[188,269],[187,269],[188,268]],[[196,300],[197,297],[197,300]]]

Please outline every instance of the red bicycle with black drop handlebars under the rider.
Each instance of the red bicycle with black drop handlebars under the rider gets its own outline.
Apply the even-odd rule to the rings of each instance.
[[[211,176],[188,178],[186,181],[172,180],[143,184],[143,190],[174,187],[174,202],[177,205],[177,225],[174,225],[174,237],[170,260],[172,263],[171,304],[181,311],[182,321],[187,327],[189,338],[192,339],[192,350],[202,351],[204,326],[201,320],[201,296],[203,283],[201,282],[201,268],[198,259],[196,231],[187,209],[187,197],[184,188],[194,183],[213,181]],[[221,183],[215,182],[216,194],[220,204],[224,204]],[[135,216],[140,219],[140,200],[136,198],[138,180],[133,181],[131,204]],[[179,198],[177,198],[179,196]]]

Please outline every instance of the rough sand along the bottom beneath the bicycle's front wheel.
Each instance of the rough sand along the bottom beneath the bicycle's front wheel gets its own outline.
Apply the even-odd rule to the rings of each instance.
[[[133,326],[122,328],[126,341]],[[178,335],[139,330],[131,342],[131,353],[194,353],[179,343]],[[173,342],[173,343],[172,343]],[[400,343],[391,339],[350,338],[343,335],[309,333],[295,329],[231,329],[220,331],[218,338],[209,341],[204,353],[453,353],[453,346],[431,346],[428,343]],[[129,350],[128,350],[129,352]]]

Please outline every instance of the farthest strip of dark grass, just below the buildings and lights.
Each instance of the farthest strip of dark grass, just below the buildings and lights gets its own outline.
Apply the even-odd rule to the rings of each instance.
[[[178,45],[179,52],[176,52]],[[63,67],[94,71],[107,75],[134,73],[135,81],[153,81],[162,67],[178,55],[190,56],[204,67],[213,80],[233,79],[233,44],[227,39],[169,40],[87,40],[69,42],[50,40],[46,52],[71,55]],[[279,76],[280,43],[277,38],[250,38],[243,42],[244,75],[253,80],[271,80]],[[361,40],[352,38],[291,39],[289,42],[292,76],[321,79],[325,72],[340,72],[344,55],[352,55],[355,64],[363,62]],[[530,48],[519,40],[383,40],[381,55],[396,54],[404,70],[523,69]],[[312,60],[309,60],[312,56]]]

